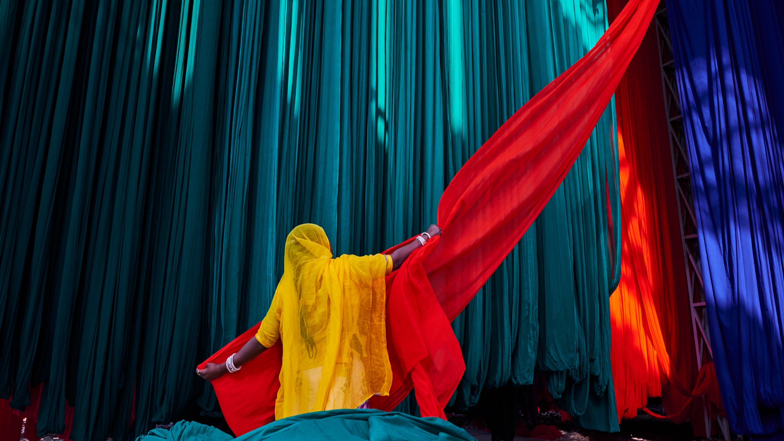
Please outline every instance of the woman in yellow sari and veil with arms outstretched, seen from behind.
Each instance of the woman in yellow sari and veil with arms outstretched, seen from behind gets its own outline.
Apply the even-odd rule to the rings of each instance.
[[[387,395],[392,370],[387,356],[384,276],[427,239],[436,225],[390,255],[332,258],[324,230],[294,228],[285,242],[284,272],[255,338],[226,363],[208,363],[197,374],[212,381],[240,370],[278,339],[283,346],[275,419],[318,410],[363,406]]]

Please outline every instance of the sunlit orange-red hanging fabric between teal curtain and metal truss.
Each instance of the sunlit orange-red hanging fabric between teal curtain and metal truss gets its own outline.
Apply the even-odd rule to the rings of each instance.
[[[626,2],[608,0],[610,20]],[[663,96],[651,24],[615,92],[623,223],[621,280],[610,297],[615,403],[619,418],[631,418],[661,396],[673,421],[691,417],[695,436],[705,436],[702,400],[689,395],[718,389],[712,364],[698,376]]]

